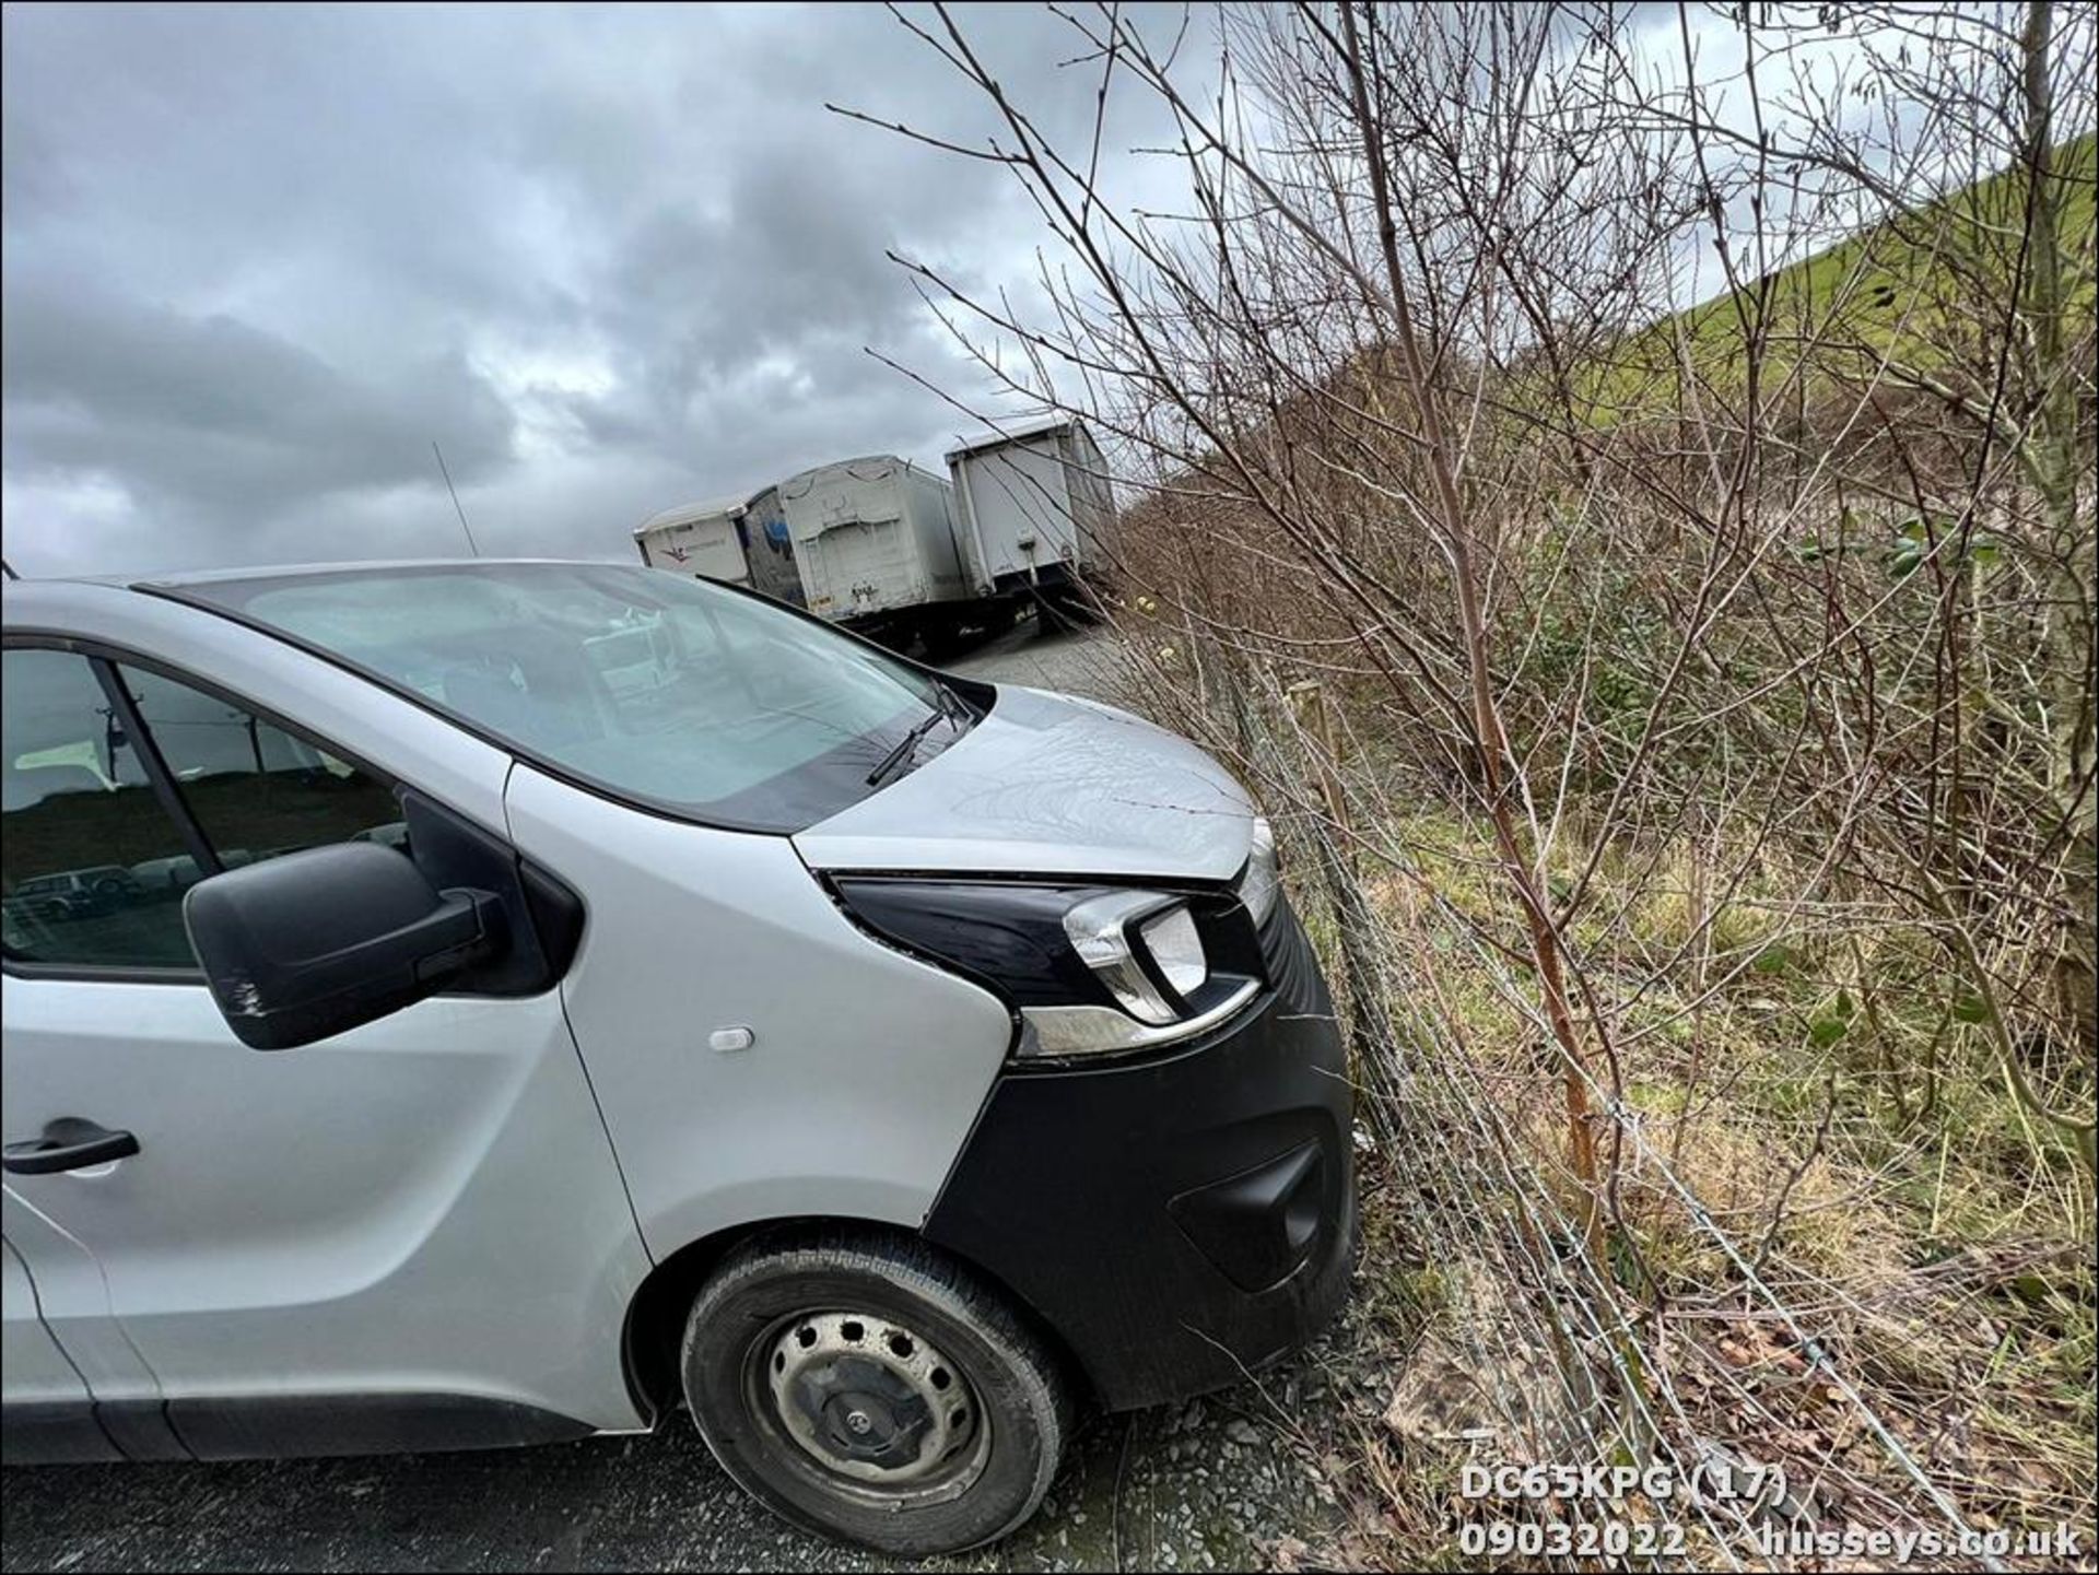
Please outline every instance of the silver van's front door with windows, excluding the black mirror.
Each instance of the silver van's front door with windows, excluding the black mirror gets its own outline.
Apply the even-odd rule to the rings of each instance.
[[[204,1458],[638,1426],[619,1334],[646,1254],[558,990],[258,1053],[189,954],[181,896],[214,868],[426,858],[395,784],[195,679],[15,646],[4,671],[6,1187],[107,1281],[94,1304],[38,1275],[61,1346],[134,1351]],[[447,885],[518,879],[489,833],[445,837]],[[462,879],[460,847],[487,868]],[[52,872],[99,896],[15,900]],[[80,1122],[132,1147],[36,1160]]]

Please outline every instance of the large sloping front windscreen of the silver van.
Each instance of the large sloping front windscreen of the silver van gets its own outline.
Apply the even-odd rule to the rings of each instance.
[[[153,589],[153,587],[149,587]],[[558,774],[709,824],[802,830],[972,721],[936,679],[762,598],[619,564],[411,564],[170,587]]]

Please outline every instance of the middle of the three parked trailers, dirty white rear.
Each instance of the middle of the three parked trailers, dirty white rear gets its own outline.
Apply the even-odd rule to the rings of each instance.
[[[779,484],[808,610],[890,644],[942,644],[970,621],[953,493],[896,455],[804,470]]]

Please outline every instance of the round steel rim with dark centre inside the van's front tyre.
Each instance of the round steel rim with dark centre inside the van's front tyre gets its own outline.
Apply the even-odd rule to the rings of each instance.
[[[766,1355],[787,1437],[875,1487],[919,1487],[970,1460],[978,1405],[961,1372],[911,1330],[871,1313],[791,1319]]]

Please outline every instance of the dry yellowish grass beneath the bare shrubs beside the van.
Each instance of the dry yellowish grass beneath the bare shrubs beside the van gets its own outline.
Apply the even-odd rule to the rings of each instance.
[[[1171,713],[1159,690],[1133,698]],[[1375,778],[1354,768],[1356,789]],[[1369,1061],[1373,992],[1348,988],[1322,820],[1297,795],[1270,807]],[[1400,1065],[1360,1072],[1385,1145],[1350,1361],[1383,1374],[1385,1403],[1314,1445],[1352,1520],[1306,1558],[1455,1567],[1455,1527],[1492,1508],[1461,1497],[1463,1462],[1637,1455],[1644,1407],[1679,1443],[1786,1464],[1814,1483],[1814,1525],[1929,1518],[1885,1428],[1973,1527],[2091,1527],[2091,1185],[1916,967],[1927,937],[1893,912],[1862,925],[1866,900],[1826,883],[1788,900],[1816,889],[1811,849],[1767,833],[1595,847],[1564,828],[1549,868],[1593,864],[1572,940],[1608,992],[1620,1095],[1608,1283],[1589,1294],[1629,1317],[1631,1353],[1589,1361],[1614,1390],[1570,1395],[1539,1304],[1566,1283],[1532,1252],[1578,1258],[1583,1193],[1528,979],[1494,946],[1513,940],[1494,860],[1442,810],[1352,833],[1400,1026]],[[1482,1112],[1509,1151],[1465,1137]],[[1700,1562],[1740,1556],[1685,1531]]]

